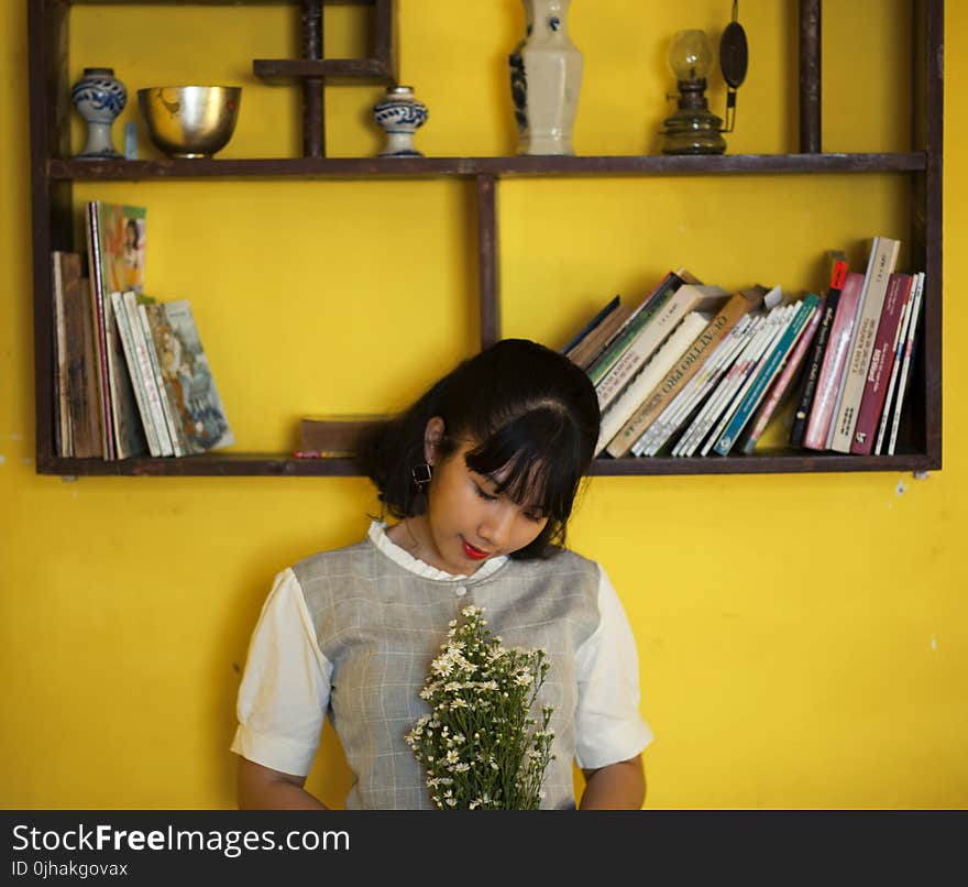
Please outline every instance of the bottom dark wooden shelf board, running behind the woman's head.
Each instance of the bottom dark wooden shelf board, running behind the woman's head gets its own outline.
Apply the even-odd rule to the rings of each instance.
[[[789,474],[843,471],[931,471],[941,468],[925,453],[842,456],[776,450],[755,456],[674,459],[597,459],[590,474],[600,477],[666,474]],[[51,459],[40,474],[62,477],[361,477],[352,459],[296,459],[286,453],[206,453],[180,459]]]

